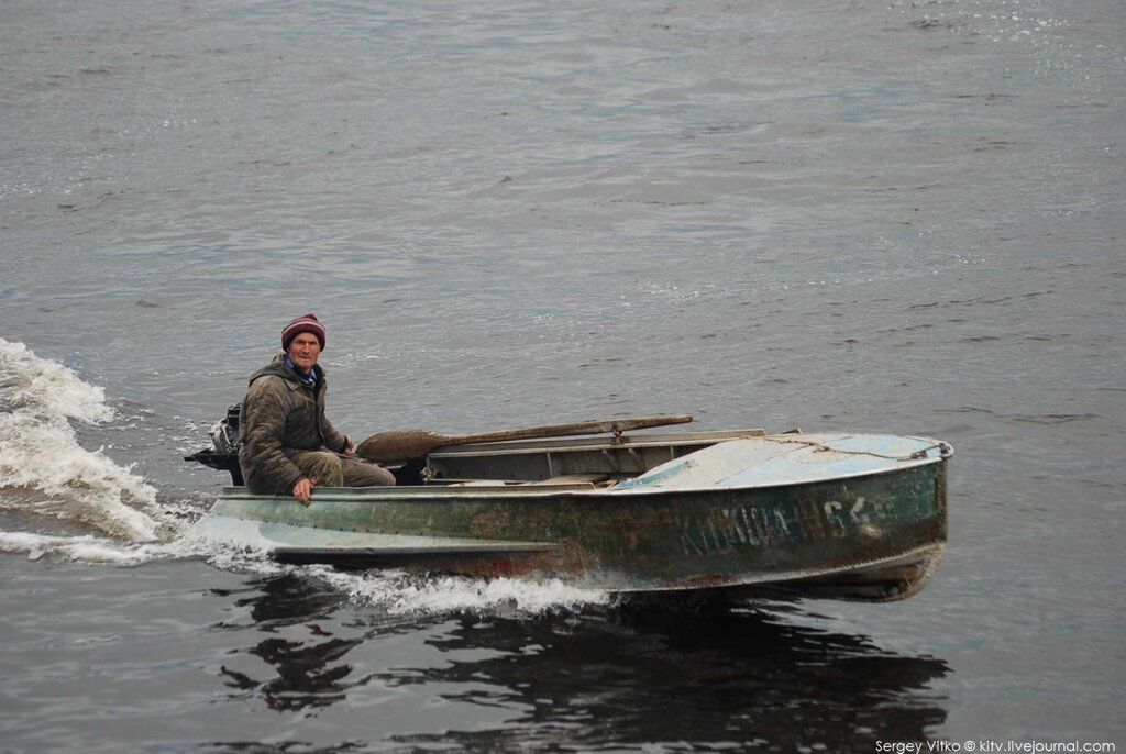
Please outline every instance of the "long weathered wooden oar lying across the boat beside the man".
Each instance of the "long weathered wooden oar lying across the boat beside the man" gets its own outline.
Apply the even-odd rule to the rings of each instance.
[[[400,461],[421,458],[435,448],[468,442],[501,442],[503,440],[529,440],[533,438],[568,437],[571,434],[599,434],[602,432],[625,432],[646,427],[685,424],[692,420],[687,414],[672,416],[638,416],[636,419],[602,419],[575,424],[549,424],[518,430],[484,432],[481,434],[439,434],[429,430],[395,430],[378,432],[359,443],[356,455],[374,461]]]

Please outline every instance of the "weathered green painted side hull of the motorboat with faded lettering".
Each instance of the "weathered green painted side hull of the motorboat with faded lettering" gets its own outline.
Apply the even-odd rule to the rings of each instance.
[[[921,589],[941,556],[946,460],[788,486],[629,495],[322,488],[304,508],[229,488],[199,523],[200,536],[243,539],[291,562],[560,578],[609,592],[750,587],[883,601]]]

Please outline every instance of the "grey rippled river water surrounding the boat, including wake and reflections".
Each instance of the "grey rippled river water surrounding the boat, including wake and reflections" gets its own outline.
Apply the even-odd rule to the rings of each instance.
[[[1126,745],[1120,0],[0,19],[0,751]],[[690,613],[193,548],[307,311],[357,437],[940,438],[946,559]]]

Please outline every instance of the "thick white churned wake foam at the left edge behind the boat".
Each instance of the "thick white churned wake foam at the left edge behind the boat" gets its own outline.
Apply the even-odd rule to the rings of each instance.
[[[113,418],[102,388],[0,338],[0,508],[79,521],[125,539],[155,539],[155,488],[100,448],[82,448],[70,423]]]

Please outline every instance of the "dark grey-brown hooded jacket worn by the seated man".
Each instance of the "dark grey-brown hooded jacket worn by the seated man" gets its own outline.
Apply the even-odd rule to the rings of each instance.
[[[343,452],[348,439],[324,415],[328,384],[316,371],[316,387],[303,385],[285,366],[284,353],[250,376],[239,415],[239,466],[253,492],[288,494],[305,474],[286,450]]]

